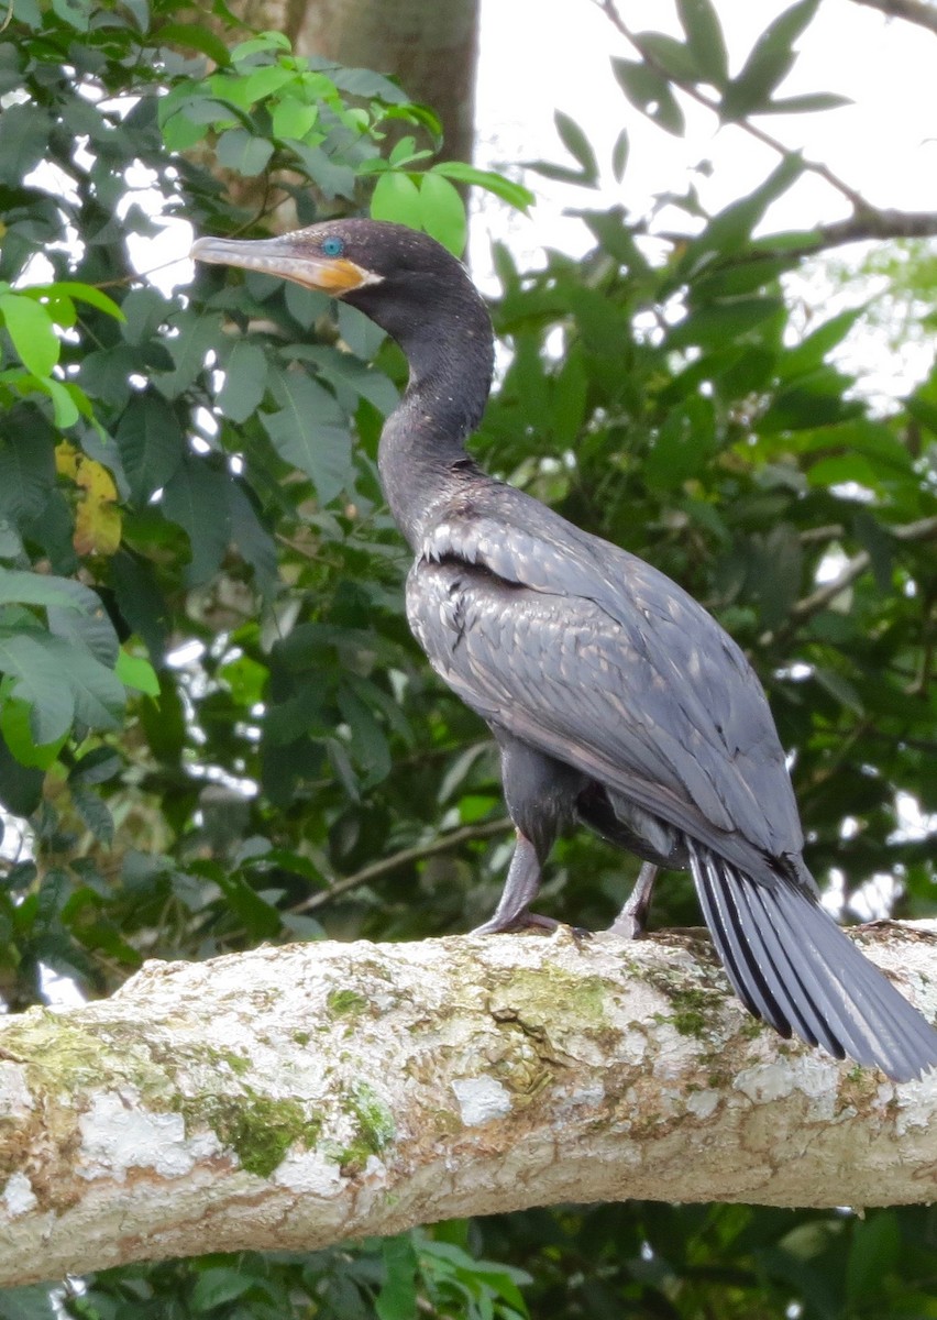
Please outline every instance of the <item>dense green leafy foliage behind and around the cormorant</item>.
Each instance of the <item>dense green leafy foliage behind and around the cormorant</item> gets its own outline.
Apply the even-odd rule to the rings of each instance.
[[[176,0],[15,0],[0,37],[0,797],[28,838],[0,888],[13,1008],[42,998],[42,968],[106,994],[154,954],[463,929],[500,888],[496,758],[408,634],[376,479],[399,351],[257,273],[165,292],[139,240],[370,203],[458,249],[455,183],[525,193],[434,165],[438,125],[395,82],[214,8],[203,25]],[[626,120],[678,133],[688,96],[740,124],[834,103],[783,94],[818,0],[735,73],[710,0],[678,0],[681,37],[630,34],[606,8],[632,42],[614,65]],[[719,214],[676,198],[685,234],[649,243],[643,218],[589,206],[602,165],[571,115],[557,128],[571,164],[542,170],[582,190],[591,251],[528,272],[496,249],[508,354],[475,453],[717,614],[768,689],[817,876],[842,873],[849,899],[886,875],[897,913],[933,912],[932,849],[900,803],[937,810],[937,374],[883,411],[837,351],[862,297],[797,321],[785,280],[831,240],[763,231],[817,169],[797,152]],[[615,177],[627,157],[623,131]],[[215,162],[264,181],[259,214]],[[874,209],[854,219],[847,236],[887,232]],[[545,898],[600,925],[633,873],[578,836]],[[697,920],[688,880],[659,916]],[[538,1212],[351,1257],[112,1271],[66,1305],[403,1320],[418,1291],[434,1313],[508,1316],[517,1267],[557,1316],[924,1315],[936,1232],[912,1210]],[[45,1298],[0,1298],[0,1316],[45,1316]]]

